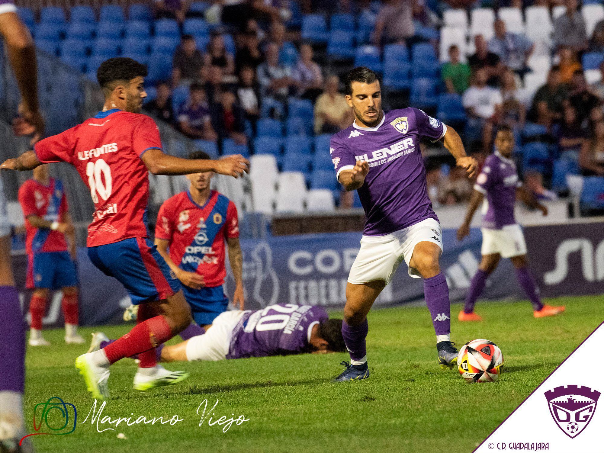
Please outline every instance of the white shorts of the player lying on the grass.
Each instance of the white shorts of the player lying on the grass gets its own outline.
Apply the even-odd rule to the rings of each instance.
[[[188,340],[187,361],[225,359],[231,347],[233,329],[244,314],[243,310],[231,310],[216,316],[208,332]]]

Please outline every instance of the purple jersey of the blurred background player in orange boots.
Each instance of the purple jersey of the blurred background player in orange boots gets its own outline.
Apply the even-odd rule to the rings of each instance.
[[[474,188],[483,193],[483,227],[500,230],[502,226],[513,225],[516,188],[518,180],[516,164],[498,151],[484,161],[483,171],[478,175]]]

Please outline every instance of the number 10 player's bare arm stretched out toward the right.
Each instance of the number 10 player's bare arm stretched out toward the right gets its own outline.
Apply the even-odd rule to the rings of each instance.
[[[240,154],[218,160],[181,159],[165,154],[161,149],[150,149],[141,156],[153,175],[190,175],[191,173],[216,172],[239,178],[249,169],[249,161]]]

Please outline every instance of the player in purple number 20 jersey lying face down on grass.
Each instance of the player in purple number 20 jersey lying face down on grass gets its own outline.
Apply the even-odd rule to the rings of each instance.
[[[104,336],[98,332],[95,336]],[[93,344],[104,347],[111,341]],[[156,351],[162,362],[343,352],[342,320],[329,319],[322,307],[269,305],[262,310],[220,313],[204,335]]]

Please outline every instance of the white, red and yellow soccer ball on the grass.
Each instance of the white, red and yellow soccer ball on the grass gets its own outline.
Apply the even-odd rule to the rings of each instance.
[[[501,374],[502,366],[501,349],[482,338],[464,344],[457,356],[457,368],[467,382],[494,382]]]

